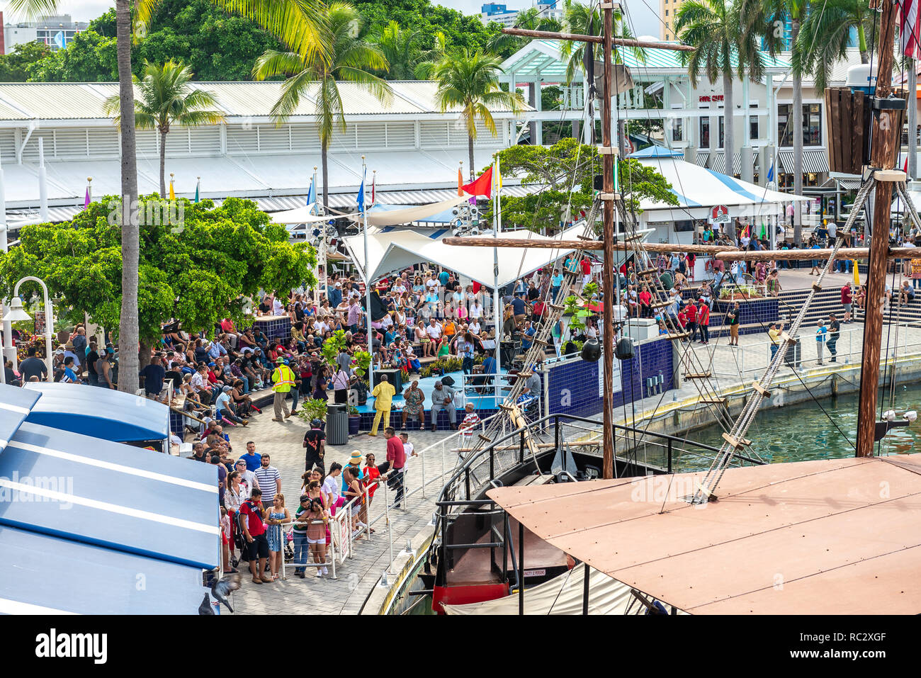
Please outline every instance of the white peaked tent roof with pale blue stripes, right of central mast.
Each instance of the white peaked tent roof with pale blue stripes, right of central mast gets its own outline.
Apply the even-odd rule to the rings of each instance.
[[[640,201],[642,216],[647,221],[704,218],[715,205],[737,207],[735,210],[729,210],[732,216],[740,212],[758,216],[780,215],[783,214],[785,203],[810,200],[802,195],[770,191],[679,158],[637,159],[641,164],[656,169],[665,177],[671,184],[672,193],[678,198],[677,206],[665,205],[654,200]]]

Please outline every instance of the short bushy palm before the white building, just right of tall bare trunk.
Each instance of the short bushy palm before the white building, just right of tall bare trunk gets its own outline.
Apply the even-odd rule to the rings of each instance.
[[[224,113],[208,110],[216,106],[212,92],[192,88],[192,70],[189,66],[169,60],[166,64],[144,63],[144,76],[134,76],[140,99],[134,101],[134,126],[156,129],[160,134],[160,197],[167,196],[166,163],[167,134],[169,126],[179,124],[194,127],[200,124],[224,122]],[[121,100],[117,95],[106,99],[104,107],[115,114],[115,124],[122,123],[119,112]]]

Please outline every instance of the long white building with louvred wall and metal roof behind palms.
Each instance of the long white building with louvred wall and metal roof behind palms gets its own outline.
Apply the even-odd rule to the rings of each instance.
[[[175,175],[177,194],[192,197],[201,177],[203,198],[250,197],[268,211],[304,205],[314,167],[321,166],[315,103],[305,98],[290,120],[277,126],[270,112],[281,85],[195,83],[215,93],[227,123],[169,132],[166,170]],[[439,111],[434,82],[391,82],[391,87],[391,102],[382,104],[356,85],[339,85],[347,124],[344,133],[334,134],[329,151],[331,206],[354,205],[362,156],[367,185],[374,176],[383,203],[425,204],[456,194],[461,162],[466,178],[468,140],[460,113]],[[119,135],[102,110],[102,102],[117,92],[117,83],[0,84],[0,159],[11,226],[37,214],[40,139],[52,220],[82,208],[87,177],[95,196],[121,192]],[[495,110],[493,117],[496,136],[477,125],[477,171],[518,134],[520,115]],[[155,131],[138,130],[142,194],[159,190],[158,145]]]

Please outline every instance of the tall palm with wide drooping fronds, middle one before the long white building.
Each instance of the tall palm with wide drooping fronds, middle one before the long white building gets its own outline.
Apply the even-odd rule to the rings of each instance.
[[[323,206],[328,208],[328,152],[333,132],[336,129],[345,131],[343,102],[337,81],[361,85],[381,102],[389,101],[393,93],[386,80],[372,73],[386,71],[389,64],[377,45],[359,37],[361,15],[358,10],[348,3],[332,2],[328,6],[321,6],[317,11],[321,12],[321,25],[328,31],[321,36],[327,45],[325,53],[314,51],[304,54],[269,50],[256,60],[252,74],[258,80],[288,76],[282,85],[281,96],[272,107],[272,116],[278,124],[284,123],[297,111],[301,97],[308,92],[316,99],[323,166]],[[309,19],[314,20],[314,17]],[[306,21],[307,18],[296,15],[292,20]],[[287,44],[284,36],[275,34],[275,37]]]

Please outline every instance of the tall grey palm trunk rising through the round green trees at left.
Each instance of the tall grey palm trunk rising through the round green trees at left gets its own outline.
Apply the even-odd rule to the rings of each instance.
[[[276,2],[279,0],[275,0]],[[54,14],[58,0],[10,0],[14,12],[37,18]],[[121,111],[134,111],[131,76],[132,21],[129,0],[115,0],[116,59]],[[121,128],[122,143],[122,312],[119,316],[119,391],[134,393],[140,371],[140,332],[138,330],[137,286],[140,254],[137,215],[137,153],[134,117],[129,115]]]

